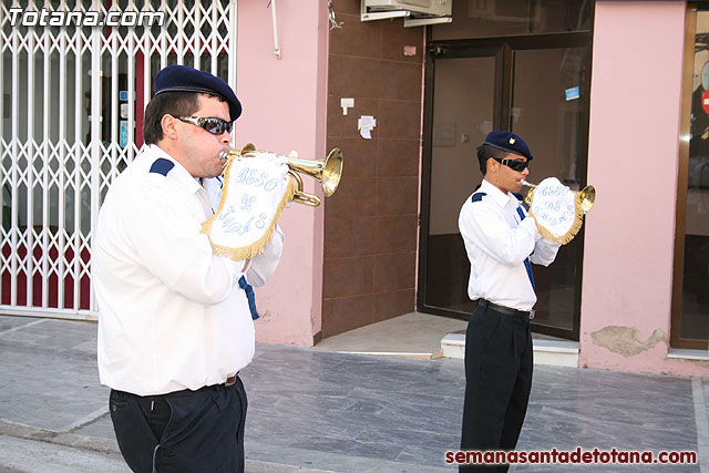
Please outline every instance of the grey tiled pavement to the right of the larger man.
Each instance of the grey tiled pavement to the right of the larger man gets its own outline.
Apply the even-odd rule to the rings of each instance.
[[[259,346],[244,378],[250,399],[247,439],[274,449],[442,467],[444,452],[459,444],[464,384],[460,360],[382,359]],[[577,446],[696,452],[691,379],[535,367],[520,450]],[[552,469],[517,466],[518,471]],[[655,469],[699,471],[698,465]],[[593,465],[587,471],[655,470]]]

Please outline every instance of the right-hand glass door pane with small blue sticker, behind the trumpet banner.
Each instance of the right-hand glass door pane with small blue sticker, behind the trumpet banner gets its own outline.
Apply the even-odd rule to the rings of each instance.
[[[527,181],[557,177],[574,191],[585,184],[586,48],[514,52],[511,130],[530,144],[535,160]],[[563,246],[548,267],[534,265],[537,331],[573,335],[580,307],[583,233]],[[542,329],[546,330],[542,330]]]

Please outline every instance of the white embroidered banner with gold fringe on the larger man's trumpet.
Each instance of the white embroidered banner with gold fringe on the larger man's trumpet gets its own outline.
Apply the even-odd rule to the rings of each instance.
[[[264,250],[297,189],[288,171],[275,153],[245,147],[229,156],[217,212],[202,224],[215,254],[238,261]]]

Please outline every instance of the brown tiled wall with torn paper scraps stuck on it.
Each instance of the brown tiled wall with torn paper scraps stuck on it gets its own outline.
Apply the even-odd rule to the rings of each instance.
[[[322,337],[414,310],[424,38],[402,19],[361,22],[360,0],[333,4],[328,150],[342,150],[345,171],[325,208]],[[354,99],[347,115],[342,97]],[[361,115],[377,120],[371,140]]]

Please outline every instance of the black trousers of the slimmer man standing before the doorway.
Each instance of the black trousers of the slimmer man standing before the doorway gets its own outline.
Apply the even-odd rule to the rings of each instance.
[[[514,450],[532,388],[530,321],[477,307],[465,333],[461,450]],[[507,471],[507,465],[477,467]],[[461,471],[472,470],[461,466]]]

